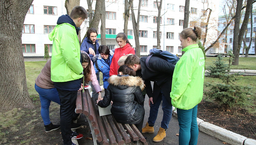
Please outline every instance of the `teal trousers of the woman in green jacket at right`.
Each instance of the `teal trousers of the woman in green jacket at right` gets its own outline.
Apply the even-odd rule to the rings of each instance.
[[[196,145],[198,139],[197,105],[189,110],[177,108],[179,145]]]

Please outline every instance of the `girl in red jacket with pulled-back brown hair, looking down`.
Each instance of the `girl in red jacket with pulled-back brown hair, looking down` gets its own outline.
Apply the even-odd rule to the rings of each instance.
[[[115,49],[115,53],[112,58],[112,63],[110,65],[109,76],[118,75],[118,63],[117,61],[121,56],[125,56],[127,54],[135,54],[134,49],[131,47],[131,43],[129,42],[127,36],[124,33],[118,33],[116,36],[116,42],[120,46],[120,48]]]

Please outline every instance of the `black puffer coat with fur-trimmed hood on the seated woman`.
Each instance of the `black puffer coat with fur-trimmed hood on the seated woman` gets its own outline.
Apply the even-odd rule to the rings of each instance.
[[[98,105],[108,107],[113,101],[111,113],[122,124],[137,124],[144,116],[144,98],[141,90],[144,82],[140,77],[112,75],[102,101]]]

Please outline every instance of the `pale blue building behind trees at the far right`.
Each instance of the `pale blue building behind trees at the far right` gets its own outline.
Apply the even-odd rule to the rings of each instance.
[[[246,34],[246,37],[245,37],[245,42],[246,42],[246,46],[248,47],[249,46],[249,43],[250,43],[250,33],[251,31],[253,32],[252,33],[252,43],[251,43],[251,47],[249,49],[249,52],[248,54],[249,55],[254,55],[255,54],[255,45],[254,45],[254,37],[255,37],[255,33],[256,33],[256,9],[253,10],[252,12],[252,26],[253,28],[251,29],[251,16],[250,16],[250,19],[249,19],[249,22],[248,22],[248,25],[247,25],[247,31],[245,32]],[[244,18],[244,13],[242,14],[242,17],[241,17],[241,24],[240,24],[240,28],[242,26],[242,22],[243,22],[243,18]],[[219,17],[219,22],[218,22],[218,32],[221,33],[222,30],[226,27],[226,18],[225,16],[220,16]],[[234,37],[234,34],[233,34],[233,30],[234,30],[234,21],[232,21],[232,23],[229,25],[228,29],[227,29],[227,34],[226,32],[221,36],[221,38],[219,39],[219,43],[221,44],[228,44],[230,45],[230,48],[233,49],[233,37]],[[244,36],[243,36],[244,38]],[[240,55],[243,53],[243,47],[244,47],[244,44],[242,42],[242,45],[241,45],[241,49],[240,49]],[[244,54],[245,54],[245,50],[244,50]]]

